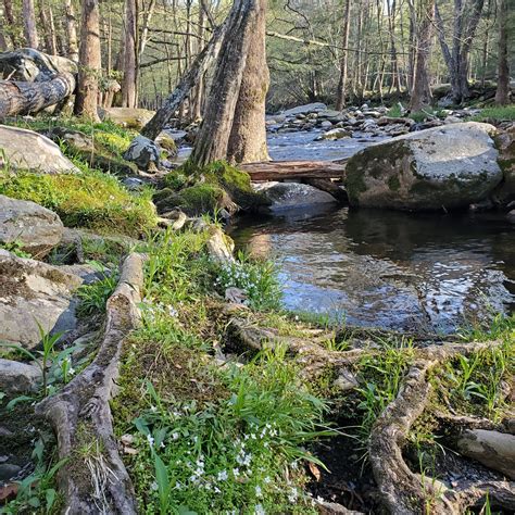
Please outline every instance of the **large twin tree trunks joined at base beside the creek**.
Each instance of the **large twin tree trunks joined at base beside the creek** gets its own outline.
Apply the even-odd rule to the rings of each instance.
[[[237,0],[216,63],[204,121],[191,162],[267,159],[264,105],[268,70],[264,54],[265,0]]]

